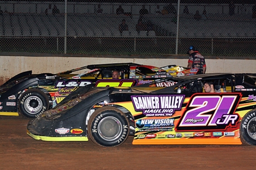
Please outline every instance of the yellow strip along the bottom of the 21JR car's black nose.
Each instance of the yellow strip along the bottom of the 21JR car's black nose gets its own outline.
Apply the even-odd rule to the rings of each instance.
[[[72,136],[72,137],[37,136],[35,134],[30,133],[28,130],[27,130],[27,134],[28,136],[31,136],[36,140],[42,140],[42,141],[88,141],[87,136]]]

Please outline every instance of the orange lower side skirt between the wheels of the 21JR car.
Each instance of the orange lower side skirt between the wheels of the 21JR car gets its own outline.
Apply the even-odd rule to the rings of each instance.
[[[226,139],[147,139],[134,140],[132,144],[242,144],[240,138]]]

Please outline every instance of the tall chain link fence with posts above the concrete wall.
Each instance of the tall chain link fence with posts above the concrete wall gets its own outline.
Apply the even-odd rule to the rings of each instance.
[[[255,56],[253,1],[157,2],[1,1],[0,51]]]

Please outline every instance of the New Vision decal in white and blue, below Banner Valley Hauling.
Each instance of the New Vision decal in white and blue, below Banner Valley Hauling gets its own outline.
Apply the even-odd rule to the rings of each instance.
[[[139,129],[171,128],[174,126],[174,119],[139,119],[136,127]]]

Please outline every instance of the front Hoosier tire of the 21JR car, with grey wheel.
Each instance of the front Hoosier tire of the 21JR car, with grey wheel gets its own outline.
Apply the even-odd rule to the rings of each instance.
[[[99,146],[116,147],[129,136],[129,120],[115,107],[96,109],[88,121],[88,136]]]

